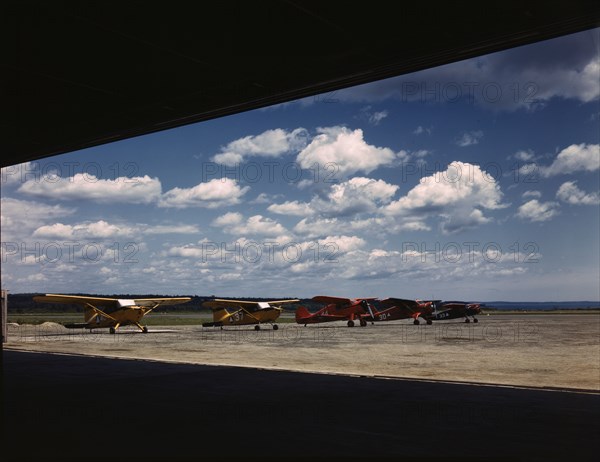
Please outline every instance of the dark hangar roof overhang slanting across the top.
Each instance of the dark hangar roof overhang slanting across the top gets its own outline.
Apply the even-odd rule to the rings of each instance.
[[[4,1],[2,166],[600,24],[593,1],[356,5]]]

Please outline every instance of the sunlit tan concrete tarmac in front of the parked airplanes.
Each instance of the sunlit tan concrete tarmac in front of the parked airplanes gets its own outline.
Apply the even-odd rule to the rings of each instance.
[[[148,318],[160,321],[156,315]],[[9,326],[8,350],[85,354],[215,366],[251,366],[600,392],[600,315],[498,315],[480,322],[411,320],[346,327],[281,323],[203,328],[135,326],[66,329],[57,323]]]

